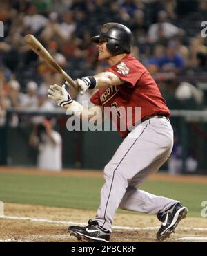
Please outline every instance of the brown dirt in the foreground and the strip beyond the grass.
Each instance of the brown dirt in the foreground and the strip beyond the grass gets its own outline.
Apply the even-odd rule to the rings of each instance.
[[[23,174],[57,175],[57,176],[103,176],[102,172],[68,170],[67,172],[40,172],[22,170],[21,168],[1,167],[0,172],[19,172]],[[207,183],[204,176],[168,176],[155,174],[152,180]],[[0,241],[77,241],[68,235],[67,228],[72,225],[85,225],[95,211],[70,208],[52,208],[42,205],[26,205],[5,203],[4,215],[0,217]],[[154,215],[117,213],[112,230],[112,242],[157,241],[156,233],[160,222]],[[182,220],[175,234],[166,241],[207,241],[206,218],[190,218]]]

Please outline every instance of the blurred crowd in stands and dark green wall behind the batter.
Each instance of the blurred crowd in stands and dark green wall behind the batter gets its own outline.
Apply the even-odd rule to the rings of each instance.
[[[38,150],[30,136],[41,122],[37,118],[52,118],[62,139],[63,167],[103,170],[121,138],[116,131],[67,131],[68,116],[46,98],[48,86],[63,80],[30,51],[23,36],[35,35],[76,79],[106,68],[97,62],[90,36],[114,21],[132,30],[132,54],[155,77],[172,111],[175,148],[162,170],[206,174],[207,41],[201,37],[206,14],[202,0],[1,1],[0,165],[36,167]]]

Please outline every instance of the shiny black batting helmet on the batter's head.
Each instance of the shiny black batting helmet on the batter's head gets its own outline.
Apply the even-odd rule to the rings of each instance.
[[[106,47],[111,53],[130,53],[132,50],[132,32],[131,30],[119,23],[106,23],[101,28],[101,33],[92,37],[92,42],[96,44],[99,40],[106,40]]]

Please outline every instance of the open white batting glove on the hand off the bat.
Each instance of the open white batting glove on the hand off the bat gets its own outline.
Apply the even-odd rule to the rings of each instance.
[[[73,101],[68,91],[66,91],[66,84],[63,84],[63,86],[57,84],[50,85],[48,98],[55,100],[59,107],[64,107],[66,104],[70,104]]]

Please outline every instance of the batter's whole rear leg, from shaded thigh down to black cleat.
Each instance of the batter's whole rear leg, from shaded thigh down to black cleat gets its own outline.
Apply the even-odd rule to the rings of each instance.
[[[119,208],[132,210],[148,214],[157,214],[159,221],[163,222],[161,228],[157,232],[157,239],[164,240],[174,232],[177,224],[181,219],[186,217],[188,212],[184,205],[179,201],[166,198],[164,196],[156,196],[143,190],[138,190],[137,187],[153,172],[159,170],[168,158],[170,151],[151,163],[145,170],[138,172],[130,181],[129,186],[124,194]]]

